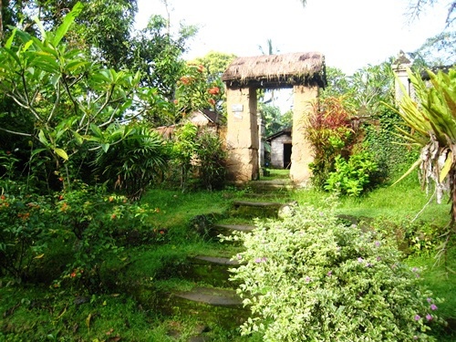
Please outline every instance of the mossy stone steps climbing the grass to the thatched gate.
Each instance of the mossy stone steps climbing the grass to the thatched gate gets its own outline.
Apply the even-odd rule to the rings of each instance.
[[[219,235],[230,235],[234,231],[249,233],[254,230],[256,217],[277,217],[279,210],[289,202],[290,184],[287,181],[252,181],[245,201],[234,201],[229,216],[242,223],[212,223],[204,229],[205,238],[219,239]],[[277,193],[280,193],[277,196]],[[252,196],[257,194],[258,196]],[[275,199],[262,202],[260,199]],[[249,200],[249,201],[247,201]],[[255,200],[255,201],[254,201]],[[223,243],[226,244],[226,243]],[[230,244],[230,243],[229,243]],[[242,251],[242,246],[237,246]],[[229,280],[229,269],[239,265],[231,256],[222,252],[218,255],[197,255],[188,258],[188,264],[181,275],[195,286],[188,291],[172,292],[166,298],[166,314],[187,313],[198,316],[203,322],[211,322],[226,329],[235,329],[249,316],[242,299],[236,295],[235,286]],[[199,285],[203,284],[203,285]],[[199,339],[197,339],[199,338]],[[189,341],[210,341],[204,331]]]

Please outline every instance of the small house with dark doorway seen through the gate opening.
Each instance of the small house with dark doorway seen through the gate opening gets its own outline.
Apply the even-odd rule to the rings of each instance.
[[[291,128],[281,130],[265,140],[271,145],[271,167],[289,169],[291,167],[292,137]]]

